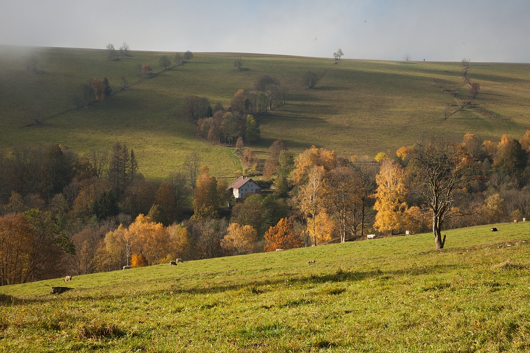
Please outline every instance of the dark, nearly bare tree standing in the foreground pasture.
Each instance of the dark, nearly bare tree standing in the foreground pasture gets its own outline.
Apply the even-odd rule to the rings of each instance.
[[[417,144],[412,158],[419,165],[418,176],[431,211],[436,249],[443,249],[444,221],[465,214],[458,206],[465,188],[479,178],[478,164],[462,145],[442,140]]]

